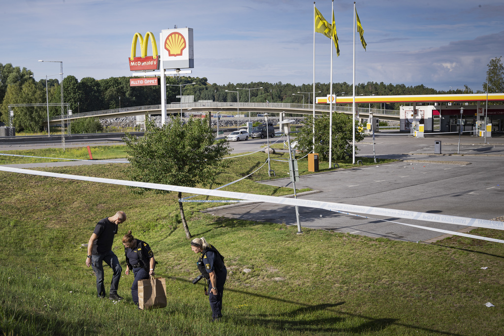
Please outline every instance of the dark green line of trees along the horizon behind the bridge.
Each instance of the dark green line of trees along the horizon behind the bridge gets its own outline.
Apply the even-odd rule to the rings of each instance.
[[[488,92],[504,92],[504,69],[501,57],[496,57],[488,63]],[[39,79],[38,81],[36,79]],[[194,85],[185,85],[191,84]],[[181,94],[193,95],[195,101],[212,100],[218,102],[236,102],[237,94],[228,91],[239,91],[239,101],[248,102],[273,102],[273,103],[313,103],[312,84],[292,85],[267,82],[251,83],[228,83],[227,85],[210,84],[206,77],[168,77],[166,79],[166,101],[178,102],[176,96]],[[11,63],[0,63],[0,121],[6,124],[9,121],[10,104],[46,103],[46,90],[49,103],[59,103],[60,83],[58,79],[46,78],[45,76],[34,76],[31,70],[13,66]],[[67,76],[62,83],[64,92],[64,102],[69,103],[69,109],[74,113],[89,112],[97,110],[107,110],[119,107],[134,107],[143,105],[156,105],[161,102],[161,90],[158,86],[130,86],[130,77],[110,77],[108,79],[96,80],[92,77],[85,77],[79,81],[75,76]],[[487,91],[487,83],[483,83],[482,90]],[[254,89],[254,90],[237,90]],[[261,89],[257,89],[261,88]],[[316,83],[315,91],[317,96],[326,96],[330,93],[329,83]],[[299,93],[304,92],[304,93]],[[333,83],[333,94],[345,92],[351,94],[353,85],[343,83]],[[465,86],[464,89],[438,91],[427,88],[424,85],[406,86],[404,84],[385,84],[383,82],[367,82],[357,84],[355,87],[357,95],[423,95],[423,94],[462,94],[473,93]],[[308,101],[309,97],[309,101]],[[366,104],[367,105],[367,104]],[[371,104],[371,108],[399,109],[400,103],[380,103]],[[50,107],[49,115],[54,116],[61,113],[60,107]],[[17,107],[14,117],[14,125],[18,130],[41,131],[47,119],[45,106],[41,107]]]

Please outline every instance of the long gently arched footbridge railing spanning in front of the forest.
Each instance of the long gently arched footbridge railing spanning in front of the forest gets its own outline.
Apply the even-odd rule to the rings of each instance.
[[[248,111],[247,109],[261,109],[261,108],[273,108],[273,109],[295,109],[295,110],[304,110],[304,111],[312,111],[313,104],[295,104],[295,103],[236,103],[236,102],[196,102],[196,103],[170,103],[166,104],[167,110],[172,110],[175,112],[177,109],[188,109],[188,108],[202,108],[202,107],[212,107],[212,108],[236,108],[243,109],[243,112]],[[316,112],[329,112],[329,105],[315,105]],[[109,110],[101,110],[101,111],[91,111],[91,112],[82,112],[75,113],[70,116],[65,116],[65,119],[76,119],[82,117],[91,117],[91,116],[100,116],[100,115],[114,115],[119,113],[128,113],[128,112],[139,112],[139,111],[152,111],[152,110],[161,110],[161,105],[146,105],[146,106],[135,106],[135,107],[121,107],[109,109]],[[333,110],[336,112],[345,112],[352,113],[351,106],[333,106]],[[360,114],[368,115],[371,112],[373,115],[390,115],[390,116],[399,116],[399,111],[397,110],[382,110],[376,108],[357,108]],[[291,111],[287,111],[287,113],[295,113]],[[60,115],[56,115],[50,118],[51,121],[61,120]]]

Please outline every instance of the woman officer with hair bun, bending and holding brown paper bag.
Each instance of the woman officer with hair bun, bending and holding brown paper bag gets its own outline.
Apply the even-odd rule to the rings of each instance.
[[[131,296],[133,302],[138,305],[138,281],[149,279],[149,276],[154,275],[156,260],[154,253],[145,241],[135,239],[128,231],[122,237],[122,245],[124,245],[124,256],[126,257],[126,275],[130,274],[130,270],[135,274],[135,280],[131,286]]]

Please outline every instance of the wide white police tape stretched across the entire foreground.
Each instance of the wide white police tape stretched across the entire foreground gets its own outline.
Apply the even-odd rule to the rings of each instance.
[[[474,226],[474,227],[479,227],[479,228],[504,230],[504,222],[489,221],[489,220],[476,219],[476,218],[457,217],[457,216],[439,215],[439,214],[427,214],[427,213],[421,213],[421,212],[395,210],[395,209],[387,209],[387,208],[354,206],[354,205],[349,205],[349,204],[331,203],[331,202],[324,202],[324,201],[317,201],[317,200],[266,196],[266,195],[257,195],[257,194],[235,192],[235,191],[210,190],[210,189],[183,187],[183,186],[169,185],[169,184],[146,183],[146,182],[136,182],[136,181],[126,181],[126,180],[115,180],[115,179],[101,178],[101,177],[59,174],[59,173],[12,168],[12,167],[5,167],[5,166],[0,166],[0,171],[19,173],[19,174],[47,176],[47,177],[66,178],[66,179],[71,179],[71,180],[80,180],[80,181],[88,181],[88,182],[117,184],[117,185],[125,185],[125,186],[140,187],[140,188],[195,193],[195,194],[202,194],[202,195],[208,195],[208,196],[243,199],[243,200],[249,200],[249,201],[255,201],[255,202],[266,202],[266,203],[274,203],[274,204],[281,204],[281,205],[287,205],[287,206],[299,206],[299,207],[306,207],[306,208],[324,209],[327,211],[336,211],[336,212],[344,212],[344,213],[351,212],[351,213],[358,213],[358,214],[398,217],[398,218],[413,219],[413,220],[426,221],[426,222],[445,223],[445,224],[454,224],[454,225],[461,225],[461,226]],[[403,223],[398,223],[398,224],[403,224]],[[404,225],[413,226],[411,224],[404,224]],[[435,229],[435,228],[426,228],[426,227],[421,227],[421,228],[425,228],[425,229],[428,229],[431,231],[450,233],[453,235],[467,236],[465,234],[461,234],[460,232],[447,231],[447,230],[441,230],[441,229]],[[486,238],[486,237],[481,237],[481,236],[474,236],[474,235],[469,235],[469,236],[471,238],[491,240],[491,241],[496,241],[499,243],[504,243],[504,241],[498,240],[498,239],[493,240],[492,238]]]

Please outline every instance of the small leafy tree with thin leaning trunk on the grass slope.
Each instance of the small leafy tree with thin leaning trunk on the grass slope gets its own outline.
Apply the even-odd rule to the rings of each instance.
[[[163,127],[147,120],[146,128],[143,138],[130,133],[124,137],[130,161],[126,172],[134,181],[196,187],[214,182],[227,166],[222,158],[229,155],[229,144],[225,140],[214,143],[208,116],[204,119],[190,118],[185,124],[176,117]],[[134,189],[137,192],[145,190]],[[178,192],[180,198],[182,193]],[[192,236],[180,201],[178,207],[185,236],[189,239]]]

